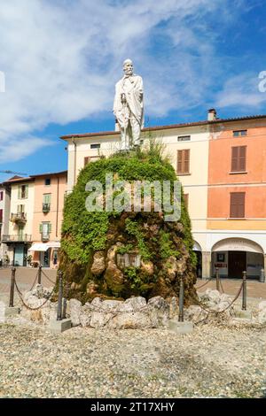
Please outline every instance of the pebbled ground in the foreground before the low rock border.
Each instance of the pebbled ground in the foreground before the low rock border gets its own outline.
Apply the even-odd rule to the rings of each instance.
[[[0,397],[266,397],[266,329],[0,325]],[[20,325],[18,325],[20,324]]]

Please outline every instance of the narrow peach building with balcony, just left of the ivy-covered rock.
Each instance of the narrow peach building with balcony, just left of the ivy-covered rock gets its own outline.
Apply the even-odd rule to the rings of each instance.
[[[35,179],[33,245],[28,250],[35,264],[56,268],[59,259],[67,172],[43,173]]]

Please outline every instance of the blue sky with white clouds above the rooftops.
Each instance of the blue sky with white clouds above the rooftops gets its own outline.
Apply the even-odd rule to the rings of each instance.
[[[265,36],[265,0],[0,0],[0,171],[65,170],[60,135],[113,130],[125,58],[145,127],[266,114]]]

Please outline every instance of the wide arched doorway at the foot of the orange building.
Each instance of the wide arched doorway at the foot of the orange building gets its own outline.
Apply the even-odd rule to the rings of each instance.
[[[212,274],[218,267],[221,277],[239,279],[246,271],[246,277],[258,279],[264,267],[262,247],[246,238],[226,238],[212,248]]]

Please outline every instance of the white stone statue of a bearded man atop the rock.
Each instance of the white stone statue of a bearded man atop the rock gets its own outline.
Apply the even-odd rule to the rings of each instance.
[[[121,150],[140,144],[140,130],[144,125],[143,81],[133,73],[133,63],[123,63],[124,76],[115,85],[113,114],[121,130]]]

